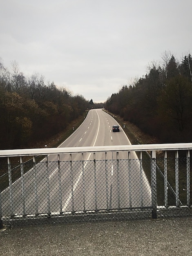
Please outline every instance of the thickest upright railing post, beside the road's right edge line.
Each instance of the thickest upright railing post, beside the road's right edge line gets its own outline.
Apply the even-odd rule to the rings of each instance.
[[[156,151],[151,152],[151,194],[152,194],[152,218],[157,218],[157,188],[156,188]]]

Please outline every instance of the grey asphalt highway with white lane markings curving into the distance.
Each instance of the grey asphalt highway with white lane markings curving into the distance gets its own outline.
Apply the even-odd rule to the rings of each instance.
[[[102,109],[90,110],[83,124],[59,147],[130,144],[125,132]],[[70,158],[71,157],[71,158]],[[72,161],[70,161],[70,159]],[[116,152],[49,155],[2,191],[4,216],[57,214],[151,206],[151,189],[136,153]]]

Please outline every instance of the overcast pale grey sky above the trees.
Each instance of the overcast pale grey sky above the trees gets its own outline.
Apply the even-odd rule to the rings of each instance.
[[[0,61],[104,102],[170,51],[192,54],[191,0],[1,0]]]

